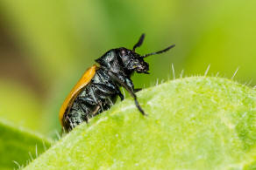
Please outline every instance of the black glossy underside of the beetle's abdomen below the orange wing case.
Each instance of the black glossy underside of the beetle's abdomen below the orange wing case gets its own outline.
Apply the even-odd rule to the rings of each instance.
[[[88,122],[90,118],[108,110],[116,102],[118,91],[118,85],[111,80],[106,71],[102,69],[96,71],[89,85],[77,95],[69,112],[65,112],[63,119],[65,130],[70,131],[83,121]]]

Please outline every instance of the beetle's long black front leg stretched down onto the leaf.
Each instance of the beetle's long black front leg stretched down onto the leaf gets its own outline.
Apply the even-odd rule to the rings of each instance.
[[[113,78],[119,85],[122,85],[125,90],[127,92],[129,92],[132,96],[132,98],[135,101],[135,105],[137,106],[137,108],[139,109],[139,112],[141,112],[141,114],[146,115],[146,113],[143,111],[143,109],[140,107],[139,102],[137,100],[137,96],[136,94],[133,92],[133,89],[131,86],[127,85],[126,83],[124,83],[120,78],[118,78],[115,73],[108,71],[108,74],[110,75],[110,78]]]

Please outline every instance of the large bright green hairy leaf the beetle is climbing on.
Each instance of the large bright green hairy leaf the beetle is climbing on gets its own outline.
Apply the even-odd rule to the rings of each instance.
[[[25,169],[252,169],[256,92],[183,78],[138,92],[60,139]]]

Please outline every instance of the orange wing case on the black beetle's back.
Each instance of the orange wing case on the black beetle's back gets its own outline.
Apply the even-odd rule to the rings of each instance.
[[[89,84],[90,80],[95,76],[96,70],[98,67],[96,65],[93,65],[90,67],[87,71],[84,72],[82,75],[82,78],[77,82],[77,84],[73,87],[71,92],[69,92],[68,97],[65,99],[64,103],[60,107],[60,114],[59,119],[60,123],[63,126],[63,116],[67,109],[70,109],[70,107],[73,105],[75,98],[79,94],[79,92],[82,91],[83,87]]]

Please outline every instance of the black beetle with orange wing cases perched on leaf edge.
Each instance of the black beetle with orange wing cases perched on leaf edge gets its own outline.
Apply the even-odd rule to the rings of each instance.
[[[132,73],[136,71],[149,74],[149,65],[144,58],[166,52],[175,45],[141,56],[135,50],[143,43],[144,37],[145,34],[139,37],[138,43],[132,50],[121,47],[105,52],[101,58],[96,59],[96,65],[84,72],[60,107],[59,119],[65,132],[110,109],[110,106],[116,102],[117,96],[123,100],[120,86],[131,94],[139,112],[146,115],[137,100],[135,92],[141,89],[134,89]]]

